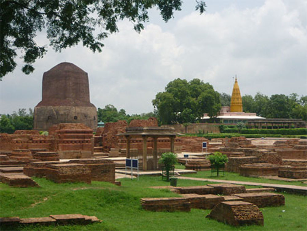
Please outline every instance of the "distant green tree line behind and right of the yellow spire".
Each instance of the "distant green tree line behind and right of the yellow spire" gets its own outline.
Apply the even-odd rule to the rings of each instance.
[[[222,106],[230,106],[231,96],[220,94]],[[266,118],[292,118],[307,121],[307,96],[298,94],[274,94],[270,97],[258,92],[255,97],[242,96],[244,112],[255,112],[258,116]]]

